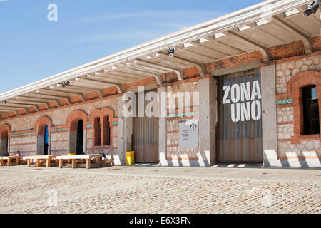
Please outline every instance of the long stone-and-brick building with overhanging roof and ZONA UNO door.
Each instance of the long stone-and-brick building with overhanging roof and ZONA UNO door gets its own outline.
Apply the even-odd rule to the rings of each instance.
[[[173,36],[165,37],[163,39],[167,39],[166,48],[162,43],[163,39],[156,40],[155,43],[144,44],[151,46],[148,52],[144,50],[135,53],[136,56],[125,56],[123,63],[119,61],[119,58],[123,57],[112,56],[62,73],[56,76],[56,81],[47,83],[44,88],[35,87],[28,91],[24,91],[26,88],[20,88],[2,94],[1,154],[5,150],[9,150],[11,155],[15,155],[18,150],[24,156],[44,154],[44,140],[48,138],[48,151],[45,150],[47,154],[65,155],[80,150],[87,154],[104,152],[114,159],[115,165],[124,165],[126,151],[141,148],[139,146],[143,145],[142,143],[151,142],[157,147],[156,157],[161,165],[210,166],[225,160],[232,163],[253,162],[253,158],[265,167],[321,167],[320,22],[315,20],[315,15],[309,19],[300,13],[308,2],[268,1],[212,22],[216,27],[222,28],[208,28],[208,31],[204,32],[202,29],[205,29],[205,23],[197,29],[190,28],[190,31],[184,31],[183,41],[178,42],[182,34],[175,33]],[[270,7],[270,10],[267,10],[267,7]],[[280,19],[280,14],[293,9],[297,9],[296,14],[288,19]],[[260,10],[262,12],[256,15]],[[262,16],[265,11],[267,15]],[[320,12],[317,11],[317,17],[319,15]],[[268,19],[269,17],[272,19]],[[262,19],[267,21],[263,25],[264,30],[258,26],[258,21]],[[312,26],[303,29],[298,21],[307,19],[310,21],[305,23],[312,21]],[[253,23],[256,23],[256,26],[253,26]],[[242,26],[249,27],[252,39],[250,33],[241,33]],[[287,34],[275,31],[283,30],[285,27]],[[267,31],[272,38],[259,42],[258,37],[266,36]],[[291,35],[290,31],[295,35]],[[190,35],[189,32],[193,34]],[[213,38],[213,41],[210,41],[212,46],[206,44],[209,43],[209,37]],[[158,48],[158,44],[161,48]],[[222,51],[220,46],[223,45]],[[137,50],[143,50],[145,46],[138,46]],[[169,58],[164,50],[172,46],[176,47],[177,56]],[[129,50],[128,53],[133,54],[135,51],[136,49]],[[125,54],[126,52],[119,53],[120,56]],[[107,64],[110,59],[113,61],[113,58],[116,60],[106,67],[108,69],[101,66],[98,68],[101,62],[106,61]],[[97,68],[88,69],[95,64]],[[69,76],[73,71],[76,72],[75,76]],[[108,73],[110,71],[113,72],[112,75]],[[235,73],[240,72],[243,72],[242,76],[236,76],[235,79]],[[240,78],[254,75],[254,72],[259,74],[260,79],[260,86],[256,88],[256,92],[253,92],[255,79],[242,79],[245,81],[231,84],[231,94],[227,95],[226,99],[229,101],[228,104],[231,104],[229,107],[233,109],[226,109],[222,100],[218,100],[219,93],[224,94],[223,90],[226,89],[226,86],[223,90],[219,88],[219,81],[226,83],[227,78],[238,81]],[[59,77],[64,79],[61,80]],[[90,88],[78,83],[92,83],[92,78],[95,77],[106,78],[96,80]],[[118,82],[115,83],[116,79]],[[68,91],[59,85],[65,80],[68,81]],[[58,87],[54,88],[53,85],[56,84]],[[166,103],[173,103],[174,106],[166,106],[165,116],[158,116],[153,123],[146,119],[140,122],[135,117],[123,116],[124,94],[138,93],[139,86],[144,86],[146,91],[155,91],[159,98],[162,97],[162,93],[166,93]],[[249,97],[252,93],[252,97],[254,94],[256,98],[248,98],[249,101],[242,104],[239,100],[247,101],[246,86],[250,86]],[[306,96],[309,89],[313,93],[310,100]],[[54,94],[46,93],[46,90],[54,91]],[[81,95],[76,90],[82,90]],[[238,91],[241,91],[242,98],[235,95]],[[186,96],[191,97],[187,104]],[[157,105],[160,110],[163,108],[161,102]],[[240,120],[235,129],[229,129],[230,125],[225,125],[226,129],[222,131],[220,121],[223,121],[223,118],[227,118],[227,121],[230,121],[228,123],[236,122],[233,118],[230,120],[231,112],[235,111],[235,108],[240,108],[240,113],[236,111],[234,118],[238,118],[239,115],[239,118],[245,121]],[[306,110],[307,108],[310,109]],[[228,113],[222,117],[219,110]],[[311,110],[317,111],[319,116],[310,116]],[[255,119],[258,116],[262,121],[261,125],[258,125],[259,120]],[[193,139],[197,145],[193,147],[182,146],[180,141],[181,123],[188,120],[195,121],[198,128],[198,138]],[[319,121],[317,130],[315,121]],[[249,136],[249,129],[254,128],[253,124],[259,132]],[[307,125],[311,125],[312,130],[306,129]],[[156,130],[153,131],[151,128]],[[235,133],[243,128],[248,136]],[[225,132],[237,136],[228,135],[223,138]],[[148,138],[148,135],[157,136],[157,139]],[[242,141],[243,138],[246,140]],[[253,138],[254,141],[250,141]],[[255,148],[260,147],[260,150],[249,149],[245,144],[250,142]],[[136,145],[137,143],[141,145]],[[235,147],[228,145],[231,143],[235,143]],[[222,146],[232,148],[230,150],[233,152],[224,152]],[[146,157],[148,153],[154,153],[148,149],[139,150],[144,150],[142,153]],[[250,155],[250,151],[253,155]],[[229,157],[229,153],[233,154],[232,158]],[[150,161],[142,158],[141,162]]]

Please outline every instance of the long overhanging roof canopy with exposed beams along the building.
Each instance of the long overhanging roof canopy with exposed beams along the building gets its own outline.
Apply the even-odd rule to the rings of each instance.
[[[0,95],[0,114],[29,113],[29,108],[39,111],[39,105],[50,109],[50,102],[60,107],[61,99],[71,104],[73,96],[86,101],[86,93],[93,91],[102,98],[104,88],[116,87],[123,93],[123,83],[143,78],[154,77],[161,84],[164,73],[174,72],[183,80],[183,70],[190,67],[198,68],[203,76],[205,63],[253,51],[260,51],[263,61],[269,61],[267,48],[292,41],[301,40],[310,53],[312,37],[320,35],[320,9],[307,18],[302,14],[311,2],[265,1],[11,90]],[[167,50],[172,47],[176,50],[170,58]],[[64,81],[70,81],[69,86],[63,87]]]

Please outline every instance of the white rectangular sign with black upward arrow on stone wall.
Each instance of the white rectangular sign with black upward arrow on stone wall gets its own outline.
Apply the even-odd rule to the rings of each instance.
[[[182,120],[179,123],[180,147],[198,147],[198,120]]]

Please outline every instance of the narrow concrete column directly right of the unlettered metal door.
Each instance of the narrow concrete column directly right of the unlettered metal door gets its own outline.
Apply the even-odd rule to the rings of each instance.
[[[158,110],[159,110],[159,137],[158,137],[158,152],[159,152],[159,161],[161,165],[167,165],[166,161],[166,113],[162,113],[162,103],[163,105],[166,104],[166,97],[165,100],[162,100],[162,92],[165,92],[166,88],[158,88],[158,98],[160,99],[160,102],[158,103]],[[166,107],[166,106],[165,106]],[[166,108],[165,108],[166,110]]]

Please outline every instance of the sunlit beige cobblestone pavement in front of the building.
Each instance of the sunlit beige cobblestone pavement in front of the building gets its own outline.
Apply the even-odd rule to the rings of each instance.
[[[17,166],[0,182],[0,213],[321,214],[321,170]]]

